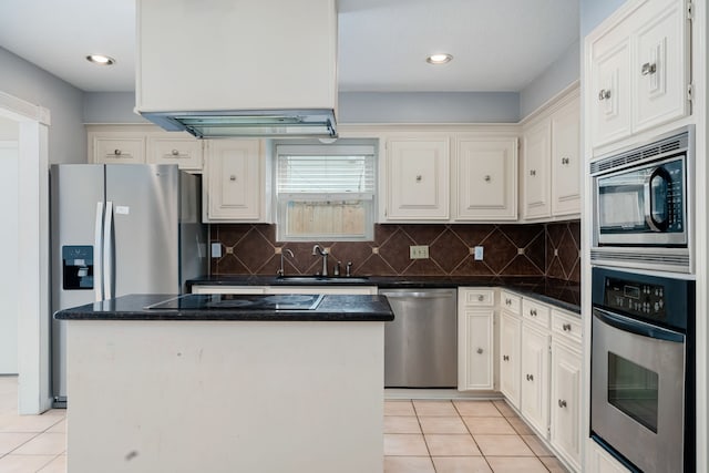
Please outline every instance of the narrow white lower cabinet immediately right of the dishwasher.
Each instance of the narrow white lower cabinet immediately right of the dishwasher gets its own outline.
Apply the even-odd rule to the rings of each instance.
[[[458,389],[494,389],[494,289],[458,289]]]

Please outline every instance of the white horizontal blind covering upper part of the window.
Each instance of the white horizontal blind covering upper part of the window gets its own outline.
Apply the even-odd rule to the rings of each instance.
[[[323,154],[326,153],[327,154]],[[372,146],[278,146],[278,198],[291,200],[371,200],[374,197]]]

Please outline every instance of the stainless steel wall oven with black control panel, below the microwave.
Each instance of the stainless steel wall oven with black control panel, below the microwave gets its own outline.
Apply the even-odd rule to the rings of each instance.
[[[633,471],[692,472],[695,282],[592,279],[592,438]]]

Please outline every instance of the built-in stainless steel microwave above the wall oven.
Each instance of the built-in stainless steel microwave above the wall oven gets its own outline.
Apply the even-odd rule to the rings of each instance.
[[[590,163],[592,264],[692,273],[693,127]]]

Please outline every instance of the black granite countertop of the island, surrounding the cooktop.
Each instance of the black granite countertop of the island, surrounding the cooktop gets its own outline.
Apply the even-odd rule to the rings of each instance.
[[[150,309],[175,295],[130,295],[60,310],[59,320],[260,320],[260,321],[389,321],[394,316],[382,296],[325,295],[312,310],[278,309]],[[259,297],[259,296],[256,296]],[[269,296],[260,296],[269,297]]]

